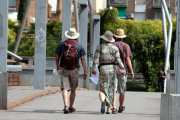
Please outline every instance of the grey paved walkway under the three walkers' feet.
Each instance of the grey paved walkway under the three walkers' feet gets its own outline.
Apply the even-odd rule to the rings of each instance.
[[[126,92],[126,110],[119,114],[102,115],[98,91],[77,91],[76,112],[63,114],[60,94],[36,98],[7,111],[0,110],[1,120],[159,120],[161,93]],[[117,99],[117,106],[118,106]]]

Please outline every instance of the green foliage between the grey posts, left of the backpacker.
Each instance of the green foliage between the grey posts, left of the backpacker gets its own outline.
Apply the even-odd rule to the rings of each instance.
[[[9,19],[9,23],[13,22]],[[17,22],[13,22],[17,24]],[[15,27],[14,24],[14,27]],[[13,26],[9,26],[8,33],[8,49],[13,51],[15,45],[16,33]],[[31,23],[29,27],[30,31],[35,31],[35,23]],[[54,20],[47,23],[47,40],[46,40],[46,56],[55,57],[55,50],[58,44],[61,42],[61,31],[62,23],[60,21]],[[35,45],[35,35],[34,34],[23,34],[21,37],[21,42],[18,48],[17,55],[19,56],[34,56],[34,45]]]

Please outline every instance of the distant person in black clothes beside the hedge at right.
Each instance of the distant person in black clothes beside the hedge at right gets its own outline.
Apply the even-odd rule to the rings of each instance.
[[[158,83],[158,92],[164,92],[164,80],[167,77],[165,72],[162,71],[162,69],[159,69],[159,72],[157,74],[157,79],[156,79],[156,86]]]

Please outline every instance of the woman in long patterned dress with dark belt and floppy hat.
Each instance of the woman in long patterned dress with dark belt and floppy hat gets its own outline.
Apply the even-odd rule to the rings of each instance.
[[[119,50],[116,46],[111,43],[113,39],[113,33],[106,31],[104,35],[100,36],[104,40],[105,44],[101,44],[96,48],[94,61],[93,61],[93,74],[96,75],[95,69],[99,68],[99,83],[100,92],[99,97],[101,101],[101,113],[105,113],[105,105],[107,107],[106,114],[110,114],[110,106],[114,105],[114,98],[117,91],[117,77],[116,77],[116,66],[118,63],[121,73],[125,73],[124,65],[120,59]],[[99,64],[99,66],[98,66]],[[116,108],[112,109],[112,113],[116,114]]]

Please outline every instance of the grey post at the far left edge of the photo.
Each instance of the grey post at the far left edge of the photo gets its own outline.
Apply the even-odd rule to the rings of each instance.
[[[0,109],[7,110],[8,0],[0,3]]]

